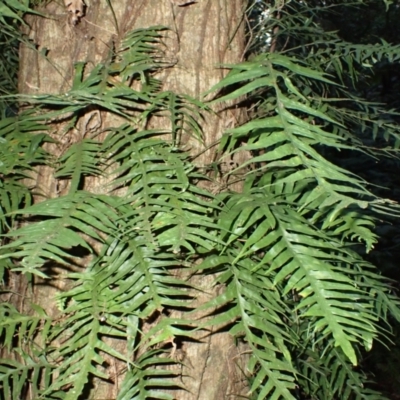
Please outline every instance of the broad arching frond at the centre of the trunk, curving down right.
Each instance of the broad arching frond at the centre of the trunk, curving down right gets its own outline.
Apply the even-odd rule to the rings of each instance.
[[[215,206],[206,200],[212,196],[191,183],[199,175],[187,156],[157,138],[159,134],[125,125],[104,142],[110,162],[120,164],[113,172],[113,188],[127,188],[122,213],[149,244],[175,254],[194,254],[194,246],[212,250],[218,242],[211,215]]]

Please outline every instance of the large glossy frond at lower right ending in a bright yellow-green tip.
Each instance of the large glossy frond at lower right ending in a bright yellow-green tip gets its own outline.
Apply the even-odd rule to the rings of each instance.
[[[378,320],[369,289],[355,284],[362,276],[357,269],[359,257],[295,211],[274,204],[274,199],[264,197],[258,202],[255,196],[238,204],[235,197],[222,217],[231,232],[228,242],[233,243],[235,236],[243,242],[234,263],[259,257],[252,271],[273,277],[274,286],[282,285],[283,295],[297,293],[295,310],[309,321],[309,331],[317,340],[332,338],[333,345],[356,364],[354,346],[369,348],[377,337]]]

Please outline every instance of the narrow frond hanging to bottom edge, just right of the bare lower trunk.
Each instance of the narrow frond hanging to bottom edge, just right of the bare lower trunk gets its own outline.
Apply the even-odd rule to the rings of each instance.
[[[218,281],[226,286],[223,294],[200,307],[224,309],[206,325],[232,324],[230,333],[248,344],[252,353],[249,380],[258,399],[294,400],[296,370],[287,347],[293,339],[282,319],[285,307],[279,292],[264,274],[252,271],[253,262],[238,262],[235,256],[211,256],[198,267],[217,268]]]

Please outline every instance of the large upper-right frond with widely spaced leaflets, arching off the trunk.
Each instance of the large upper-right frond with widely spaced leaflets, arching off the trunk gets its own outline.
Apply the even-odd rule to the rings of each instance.
[[[299,92],[291,79],[294,74],[329,82],[324,75],[280,55],[260,56],[256,61],[231,67],[234,72],[217,84],[214,90],[238,82],[242,82],[243,86],[221,97],[219,101],[232,100],[253,93],[256,89],[271,88],[276,95],[276,108],[272,115],[253,119],[239,128],[227,131],[229,138],[224,144],[228,143],[228,149],[234,153],[250,151],[255,155],[239,168],[258,165],[254,172],[250,172],[257,174],[266,170],[279,171],[280,178],[271,182],[274,185],[295,185],[307,180],[310,189],[308,196],[303,196],[302,207],[316,209],[334,205],[331,220],[349,204],[366,208],[367,199],[372,200],[374,196],[365,189],[365,183],[329,162],[315,149],[320,143],[337,149],[351,147],[346,144],[345,138],[325,131],[322,124],[316,123],[315,119],[333,124],[335,121],[323,111],[311,107],[309,100]],[[281,71],[278,67],[287,70]],[[246,83],[248,80],[250,83]],[[235,150],[243,137],[249,138],[248,144]],[[366,200],[361,200],[362,197]]]

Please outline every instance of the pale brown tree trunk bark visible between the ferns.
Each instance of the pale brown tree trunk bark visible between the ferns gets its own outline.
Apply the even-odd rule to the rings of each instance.
[[[19,75],[20,93],[62,93],[71,86],[74,63],[83,61],[88,68],[107,59],[113,48],[128,31],[163,25],[171,30],[167,36],[166,57],[171,60],[171,67],[163,70],[161,78],[164,89],[179,94],[199,98],[202,93],[217,83],[226,73],[219,68],[221,64],[241,61],[244,51],[243,14],[245,0],[198,0],[197,3],[177,6],[170,0],[87,0],[85,15],[71,24],[65,8],[59,2],[50,2],[45,9],[48,18],[30,17],[29,36],[38,45],[36,50],[23,46],[21,48],[21,68]],[[46,57],[44,57],[46,55]],[[215,110],[215,116],[208,114],[202,126],[204,148],[191,138],[186,138],[186,148],[195,158],[198,166],[205,166],[214,161],[213,144],[221,137],[222,132],[237,123],[242,117],[239,110]],[[105,111],[90,111],[97,119],[99,131],[115,126],[119,117]],[[86,118],[86,119],[85,119]],[[87,116],[82,115],[79,124],[85,124]],[[151,122],[153,127],[160,121]],[[162,122],[161,122],[162,123]],[[73,143],[74,131],[63,136],[63,121],[53,121],[51,135],[57,144],[47,145],[47,149],[59,156],[66,147]],[[78,128],[77,128],[78,129]],[[76,132],[75,132],[76,133]],[[55,179],[54,171],[41,167],[36,181],[37,200],[54,198],[66,193],[68,182]],[[96,193],[102,192],[104,179],[88,179],[85,189]],[[82,259],[82,267],[88,262]],[[54,298],[57,291],[68,288],[63,276],[66,271],[57,268],[53,271],[54,279],[35,281],[33,301],[42,305],[49,315],[56,317],[57,309]],[[194,277],[193,283],[204,288],[204,295],[197,297],[198,304],[208,300],[211,282],[215,277]],[[20,284],[20,283],[19,283]],[[207,293],[208,292],[208,293]],[[200,314],[193,318],[198,318]],[[219,400],[234,399],[245,396],[246,384],[241,370],[244,370],[243,359],[240,362],[242,349],[234,346],[230,336],[222,329],[220,332],[203,332],[196,336],[197,341],[185,342],[182,350],[186,354],[182,367],[181,381],[186,391],[171,391],[179,400]],[[124,343],[115,341],[113,346],[124,349]],[[238,365],[242,364],[240,368]],[[121,367],[121,368],[120,368]],[[109,382],[94,380],[93,389],[88,397],[93,399],[114,399],[123,374],[118,371],[122,366],[110,360],[107,373]]]

